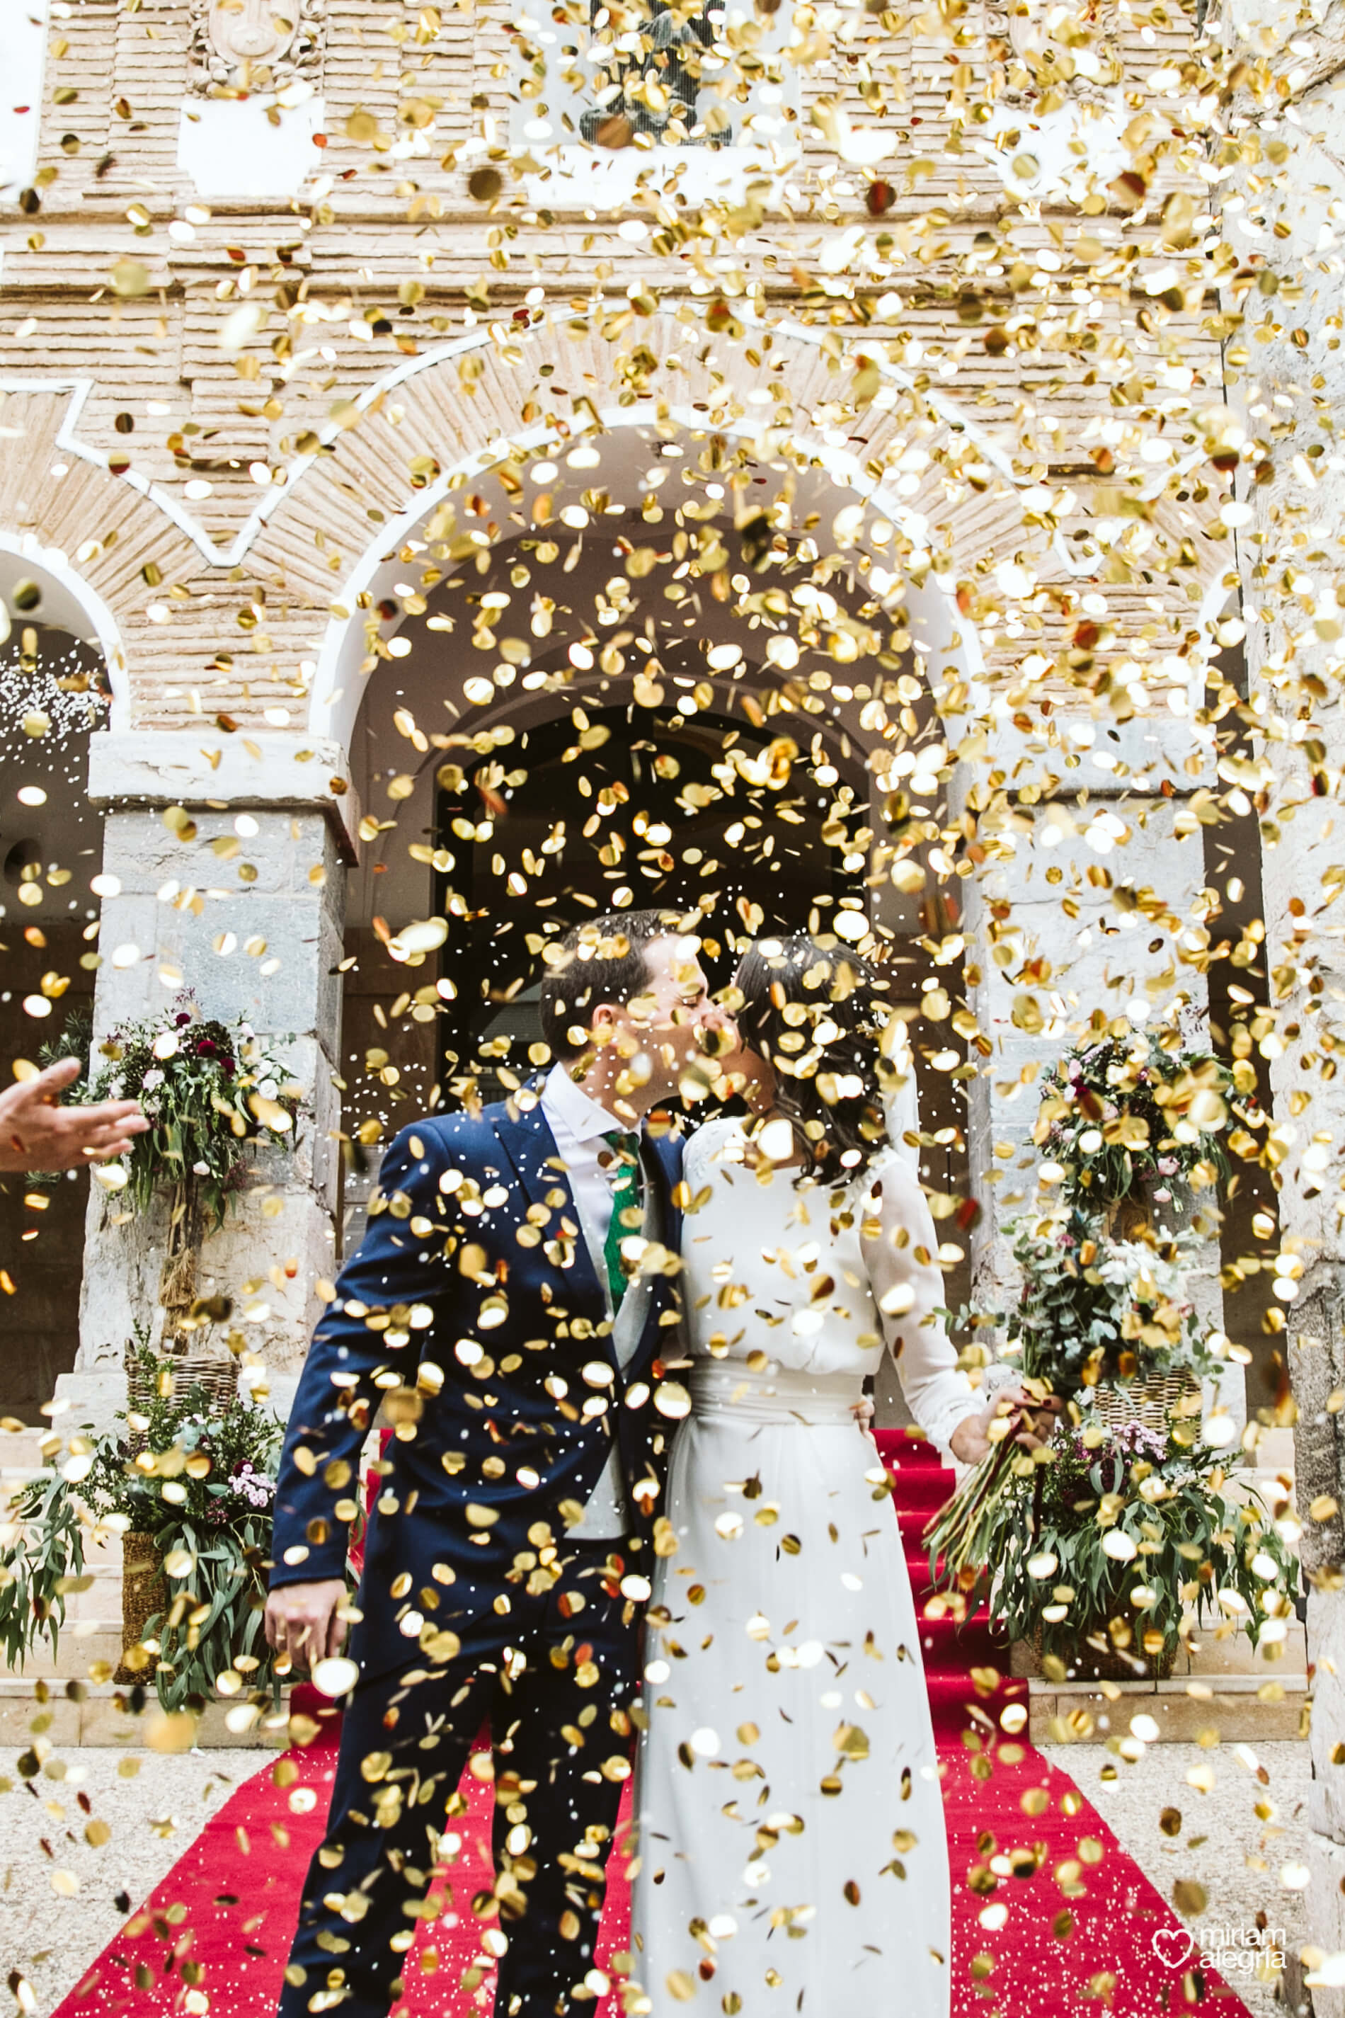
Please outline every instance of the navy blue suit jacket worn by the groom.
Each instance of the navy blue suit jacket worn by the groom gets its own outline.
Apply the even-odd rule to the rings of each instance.
[[[359,1453],[379,1407],[395,1425],[369,1520],[351,1653],[383,1673],[419,1645],[454,1651],[454,1616],[546,1578],[615,1431],[631,1532],[629,1594],[651,1574],[667,1445],[684,1413],[682,1142],[645,1132],[667,1241],[651,1249],[643,1334],[625,1368],[540,1106],[502,1102],[393,1138],[369,1231],[341,1269],[294,1396],[276,1487],[272,1588],[345,1574]],[[540,1560],[538,1560],[540,1558]],[[546,1588],[546,1582],[532,1582]]]

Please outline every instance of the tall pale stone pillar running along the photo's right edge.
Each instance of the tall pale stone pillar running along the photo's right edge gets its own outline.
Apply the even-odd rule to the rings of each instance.
[[[1311,1578],[1315,1834],[1305,1976],[1317,2018],[1345,2018],[1345,1766],[1335,1764],[1345,1746],[1345,955],[1333,904],[1345,771],[1345,466],[1337,436],[1345,402],[1345,50],[1335,16],[1301,24],[1264,0],[1240,0],[1232,28],[1236,54],[1270,57],[1287,93],[1274,107],[1280,117],[1264,117],[1264,105],[1242,107],[1272,174],[1262,182],[1254,167],[1254,182],[1228,184],[1242,198],[1228,236],[1244,258],[1254,248],[1266,285],[1234,285],[1224,311],[1242,319],[1226,357],[1228,404],[1246,430],[1234,523],[1242,521],[1236,541],[1250,706],[1262,724],[1254,753],[1258,785],[1266,787],[1258,805],[1272,1027],[1258,1043],[1270,1063],[1270,1140],[1280,1158],[1280,1308],[1297,1407],[1301,1554]],[[1256,236],[1242,236],[1244,220]]]

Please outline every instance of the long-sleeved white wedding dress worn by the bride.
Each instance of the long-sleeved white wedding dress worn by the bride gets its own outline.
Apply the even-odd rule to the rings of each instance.
[[[682,2018],[946,2018],[950,1879],[920,1627],[853,1405],[887,1344],[946,1447],[956,1366],[915,1176],[883,1150],[833,1211],[758,1183],[734,1122],[686,1152],[692,1413],[645,1641],[633,2004]],[[881,1308],[879,1308],[881,1306]],[[930,1322],[928,1322],[930,1320]]]

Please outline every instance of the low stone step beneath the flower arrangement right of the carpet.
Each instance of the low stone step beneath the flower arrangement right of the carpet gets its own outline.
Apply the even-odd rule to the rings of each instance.
[[[1276,1677],[1278,1681],[1280,1677]],[[1285,1677],[1278,1701],[1262,1699],[1266,1683],[1230,1675],[1218,1687],[1192,1681],[1049,1683],[1028,1679],[1028,1737],[1036,1746],[1196,1744],[1216,1731],[1222,1744],[1268,1744],[1272,1737],[1307,1740],[1307,1681]],[[1147,1717],[1155,1731],[1133,1717]]]

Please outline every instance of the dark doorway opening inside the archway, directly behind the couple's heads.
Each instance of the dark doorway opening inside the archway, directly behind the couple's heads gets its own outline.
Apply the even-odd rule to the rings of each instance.
[[[456,989],[444,1088],[476,1068],[490,1100],[508,1086],[500,1066],[528,1070],[542,946],[585,916],[700,908],[706,967],[722,987],[732,938],[825,934],[841,900],[863,900],[865,850],[843,837],[865,825],[867,801],[813,737],[811,720],[756,728],[617,706],[446,765],[436,839],[452,868],[436,908],[466,916],[452,916],[440,957]]]

